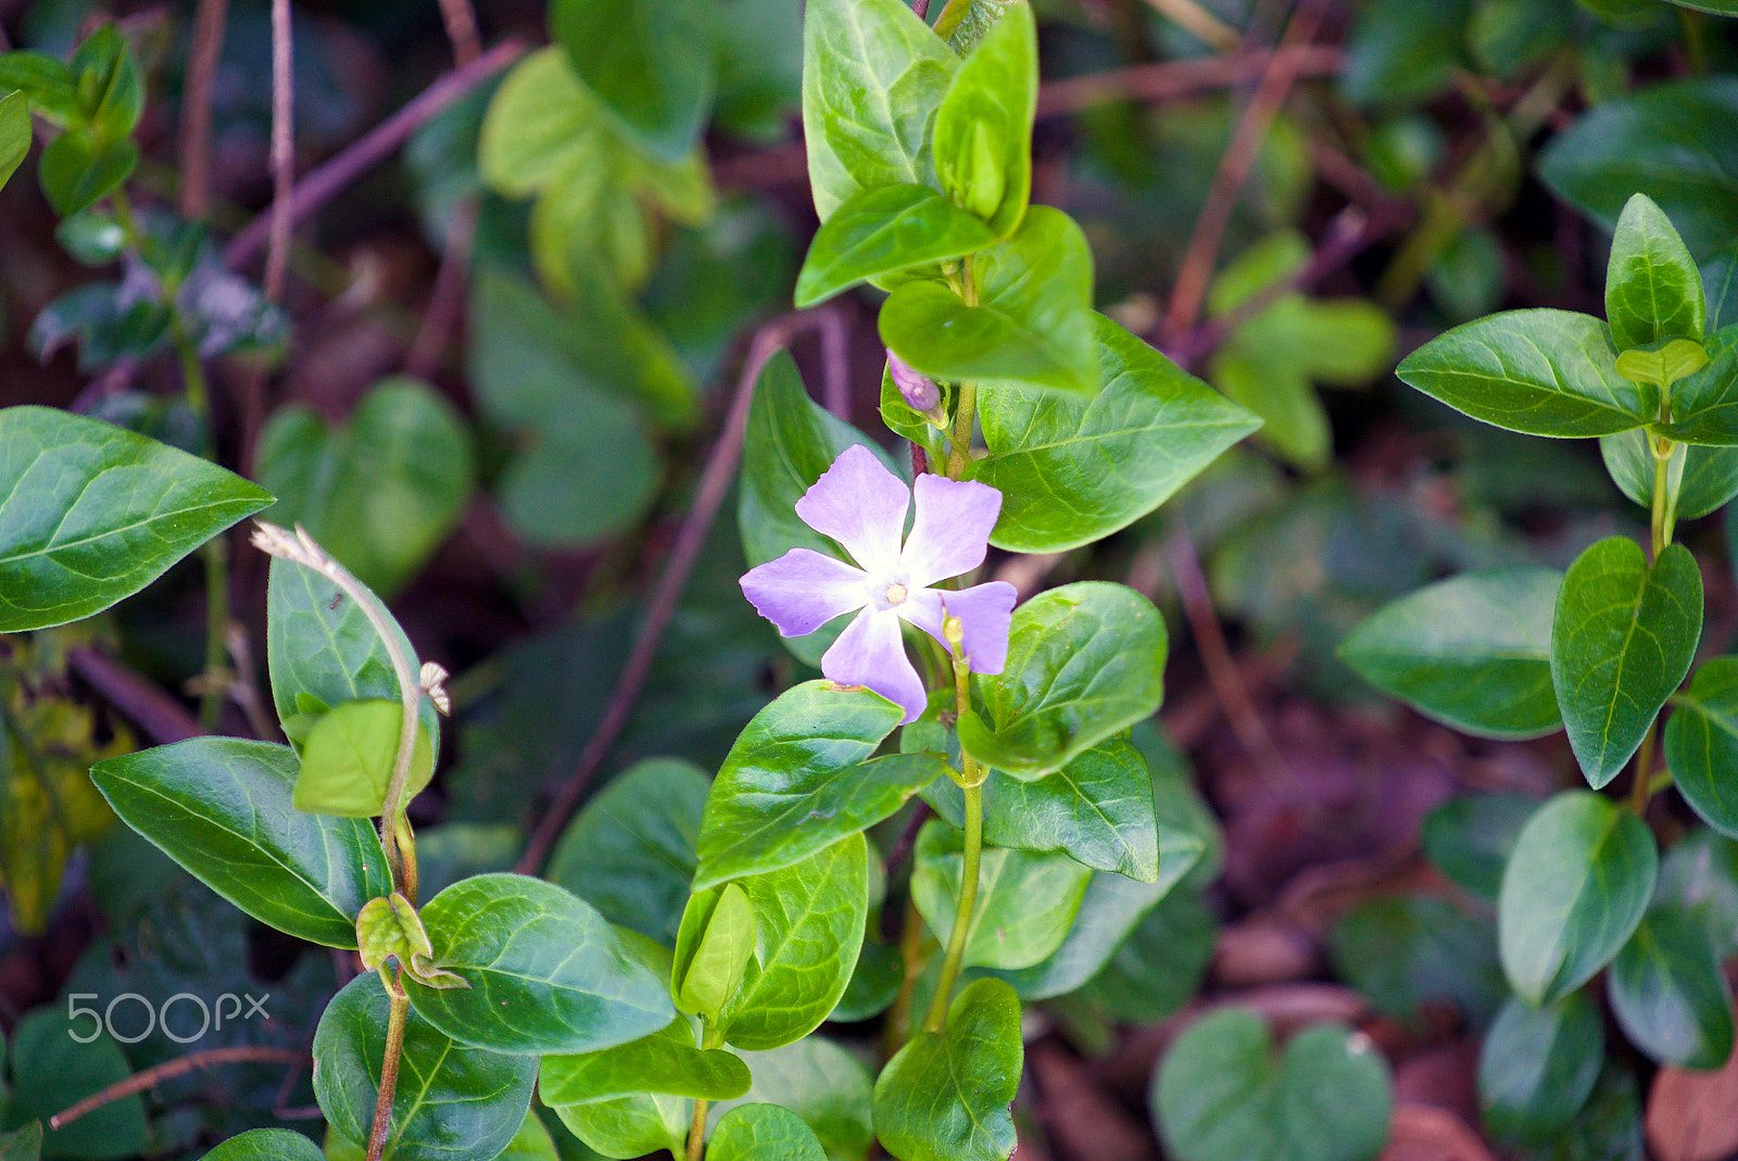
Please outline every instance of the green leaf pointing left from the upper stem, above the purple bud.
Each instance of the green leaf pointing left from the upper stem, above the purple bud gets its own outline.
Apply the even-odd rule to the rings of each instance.
[[[996,242],[984,222],[925,186],[860,189],[815,231],[796,276],[799,308],[866,278],[933,266]]]

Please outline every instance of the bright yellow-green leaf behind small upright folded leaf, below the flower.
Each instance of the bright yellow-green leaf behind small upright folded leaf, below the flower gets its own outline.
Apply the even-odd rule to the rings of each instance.
[[[853,834],[737,883],[754,912],[754,959],[718,1029],[737,1048],[761,1052],[813,1032],[845,994],[869,919],[869,845]]]

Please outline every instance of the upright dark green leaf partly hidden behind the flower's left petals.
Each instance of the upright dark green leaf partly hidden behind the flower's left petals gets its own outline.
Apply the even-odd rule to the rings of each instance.
[[[742,534],[742,554],[751,567],[784,556],[793,547],[838,554],[827,537],[798,520],[796,501],[853,443],[867,447],[893,469],[886,454],[866,435],[808,398],[796,362],[787,353],[773,355],[749,405],[737,490],[737,528]],[[780,641],[798,659],[819,667],[820,655],[834,638],[838,629],[824,626],[808,636]]]

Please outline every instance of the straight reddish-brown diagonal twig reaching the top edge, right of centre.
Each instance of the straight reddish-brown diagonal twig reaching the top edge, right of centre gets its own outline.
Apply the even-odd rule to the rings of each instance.
[[[1272,127],[1279,108],[1284,104],[1291,85],[1298,80],[1298,61],[1286,49],[1307,45],[1321,28],[1323,0],[1298,0],[1286,31],[1281,35],[1279,49],[1269,57],[1262,80],[1255,87],[1255,96],[1237,122],[1225,155],[1213,172],[1213,184],[1208,186],[1206,202],[1196,219],[1194,233],[1184,250],[1182,268],[1171,285],[1171,302],[1164,316],[1163,335],[1166,344],[1178,341],[1194,327],[1206,301],[1208,282],[1213,278],[1213,262],[1218,257],[1218,243],[1231,226],[1231,214],[1237,205],[1237,191],[1250,179],[1255,158],[1267,130]]]

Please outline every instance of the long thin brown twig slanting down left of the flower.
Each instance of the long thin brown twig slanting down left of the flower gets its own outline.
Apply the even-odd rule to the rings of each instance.
[[[718,516],[718,508],[725,502],[725,492],[730,490],[730,478],[735,474],[742,441],[747,436],[749,403],[754,398],[754,384],[760,381],[761,370],[799,330],[822,325],[822,316],[824,313],[820,311],[784,315],[765,323],[749,341],[749,351],[742,360],[742,372],[737,375],[735,393],[730,398],[725,428],[713,445],[711,455],[706,459],[693,508],[688,509],[681,528],[676,532],[676,544],[671,549],[669,561],[664,565],[664,574],[657,580],[657,587],[652,591],[647,615],[640,622],[640,633],[634,636],[627,662],[615,680],[615,688],[610,690],[603,720],[591,732],[586,749],[580,751],[574,770],[563,779],[554,801],[549,803],[549,808],[537,820],[537,829],[532,831],[532,838],[525,845],[525,853],[520,855],[516,869],[521,874],[535,874],[542,867],[549,848],[554,846],[556,838],[567,827],[568,819],[574,817],[580,798],[584,798],[586,789],[596,777],[598,766],[603,765],[603,758],[610,753],[615,739],[620,737],[622,726],[627,725],[627,718],[640,697],[640,688],[652,671],[659,641],[664,640],[664,629],[669,627],[669,619],[676,614],[676,601],[681,600],[681,591],[688,584],[688,574],[693,572],[700,549],[706,546],[706,537],[713,528],[713,520]]]

